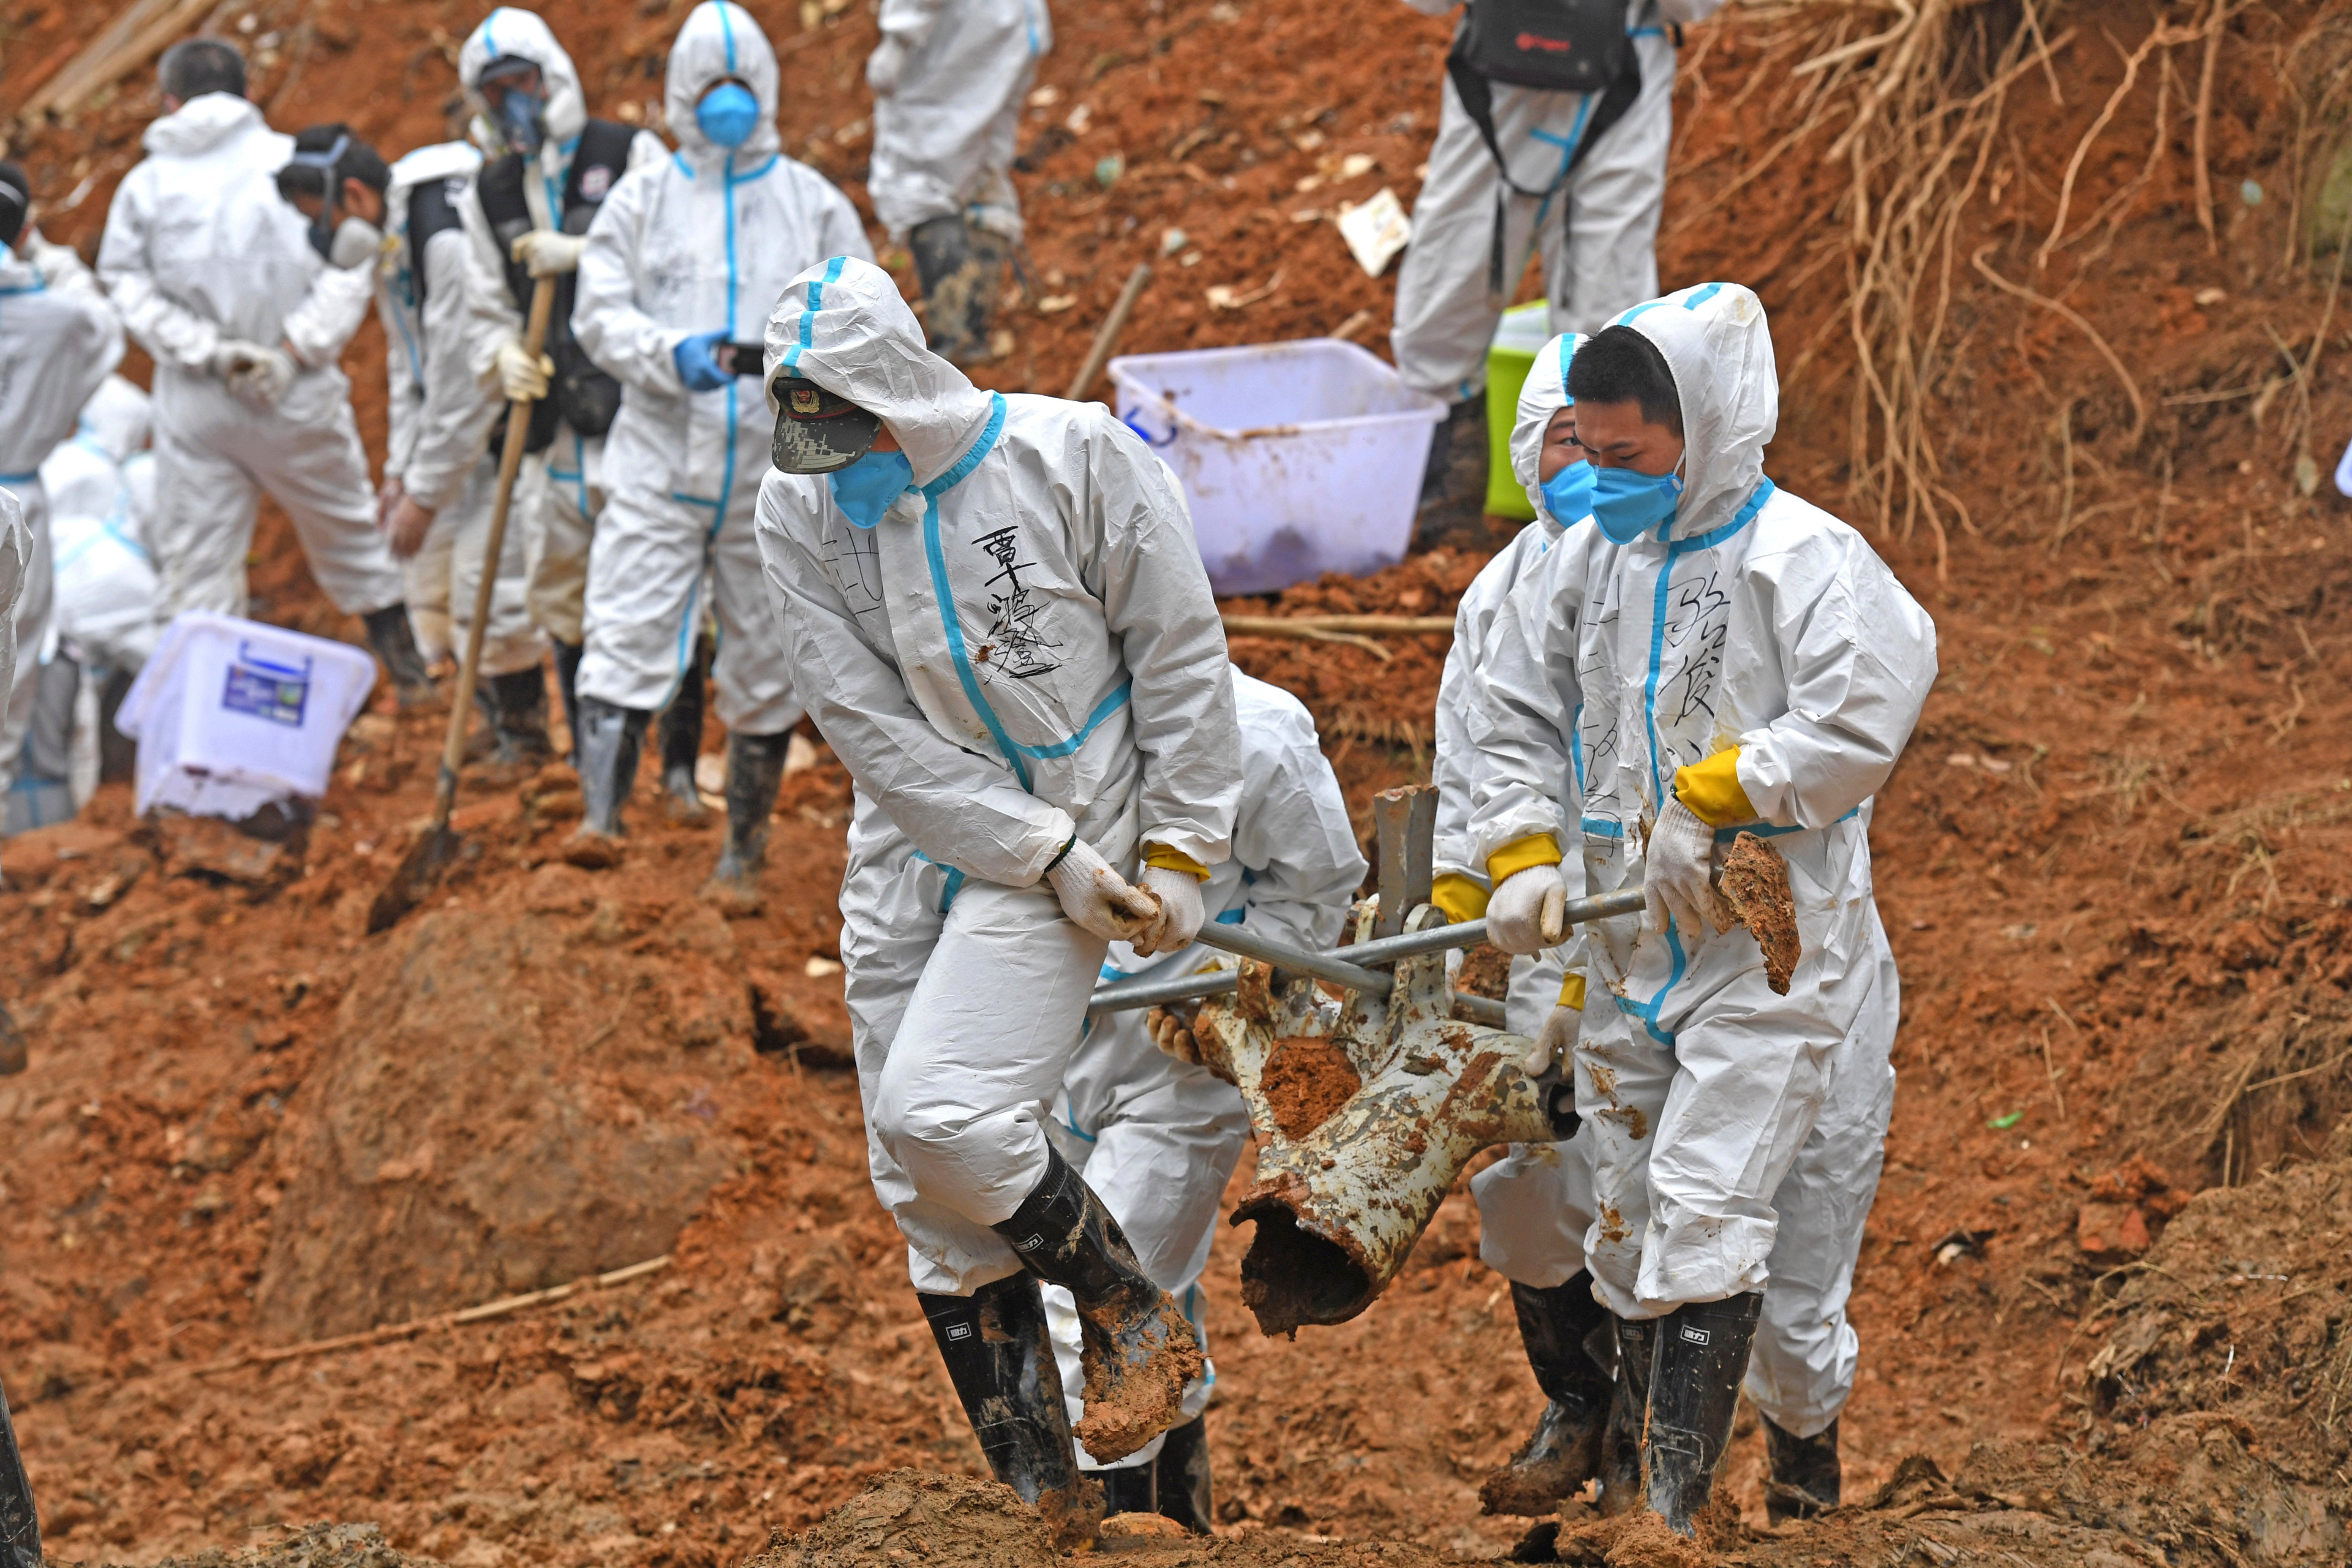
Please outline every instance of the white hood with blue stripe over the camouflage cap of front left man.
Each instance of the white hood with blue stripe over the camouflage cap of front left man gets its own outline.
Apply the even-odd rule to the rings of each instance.
[[[922,324],[889,273],[856,256],[835,256],[783,284],[767,317],[771,414],[781,367],[877,414],[915,468],[915,484],[955,468],[995,409],[964,371],[922,346]]]

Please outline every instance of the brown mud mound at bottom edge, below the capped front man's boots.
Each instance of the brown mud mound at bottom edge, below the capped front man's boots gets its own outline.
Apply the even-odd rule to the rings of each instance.
[[[743,1568],[1051,1568],[1056,1561],[1044,1519],[1002,1481],[891,1469],[807,1535],[769,1535]]]

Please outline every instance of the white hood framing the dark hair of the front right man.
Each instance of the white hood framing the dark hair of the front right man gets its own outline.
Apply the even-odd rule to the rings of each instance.
[[[1658,346],[1682,397],[1682,503],[1672,538],[1731,522],[1764,477],[1780,423],[1780,371],[1764,303],[1736,282],[1703,282],[1635,306],[1611,327]]]

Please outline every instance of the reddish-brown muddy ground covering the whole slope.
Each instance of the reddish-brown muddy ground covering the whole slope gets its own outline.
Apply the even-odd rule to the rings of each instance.
[[[682,9],[553,9],[600,110],[649,113]],[[868,7],[753,9],[786,49],[790,146],[863,202]],[[280,125],[348,115],[400,148],[442,134],[477,12],[226,0],[209,26],[268,54],[256,96]],[[1851,160],[1825,153],[1860,99],[1792,71],[1896,16],[1733,9],[1693,28],[1677,99],[1663,280],[1757,287],[1785,381],[1769,468],[1865,527],[1936,616],[1943,668],[1872,820],[1905,1001],[1844,1418],[1846,1495],[1870,1507],[1762,1533],[1743,1418],[1726,1474],[1750,1535],[1724,1552],[2336,1563],[2352,510],[2321,475],[2352,435],[2331,249],[2347,207],[2328,179],[2352,9],[2230,7],[2211,54],[2216,14],[2194,5],[1955,14],[1964,99],[1969,49],[1999,54],[1985,40],[2039,28],[2051,63],[2018,63],[1971,202],[1926,252],[1919,310],[1945,322],[1926,423],[1966,508],[1943,545],[1856,489],[1870,388],[1849,299],[1870,214],[1844,195]],[[1378,343],[1392,280],[1367,280],[1317,214],[1381,186],[1411,200],[1444,21],[1388,0],[1068,0],[1056,28],[1054,103],[1023,129],[1037,299],[990,381],[1061,390],[1169,228],[1185,247],[1124,348],[1317,334],[1362,310]],[[64,0],[16,7],[0,96],[21,101],[87,33]],[[49,233],[85,254],[136,155],[141,92],[14,139],[59,207]],[[1345,176],[1350,153],[1371,167]],[[2046,244],[2060,200],[2072,216]],[[1272,287],[1225,310],[1211,284]],[[379,355],[369,327],[350,369],[372,430]],[[1232,609],[1446,614],[1501,538]],[[270,618],[358,639],[273,512],[254,583]],[[1235,642],[1315,710],[1367,830],[1374,790],[1425,776],[1444,654],[1388,649]],[[741,1563],[889,1472],[978,1474],[840,1070],[840,769],[788,783],[753,917],[694,896],[713,827],[640,804],[628,863],[588,875],[553,860],[557,778],[473,780],[459,825],[477,853],[445,903],[365,936],[435,745],[433,719],[365,717],[306,856],[268,886],[146,837],[122,788],[5,851],[0,994],[33,1067],[0,1081],[0,1371],[54,1552]],[[1228,1197],[1247,1180],[1244,1159]],[[1475,1490],[1538,1394],[1475,1225],[1451,1199],[1385,1300],[1296,1342],[1249,1326],[1247,1237],[1223,1232],[1209,1420],[1230,1535],[1120,1549],[1512,1549],[1524,1521],[1479,1519]],[[654,1258],[489,1321],[254,1359]],[[278,1540],[320,1519],[372,1521],[381,1544]],[[1559,1526],[1569,1561],[1672,1561]]]

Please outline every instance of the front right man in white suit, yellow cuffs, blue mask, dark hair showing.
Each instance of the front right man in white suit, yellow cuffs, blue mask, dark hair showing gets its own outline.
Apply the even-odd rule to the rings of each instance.
[[[1646,1406],[1646,1497],[1689,1533],[1750,1371],[1783,1182],[1825,1103],[1891,1093],[1884,1060],[1844,1072],[1865,1013],[1893,1004],[1867,802],[1919,717],[1936,644],[1853,529],[1764,477],[1778,383],[1748,289],[1628,310],[1576,353],[1569,393],[1606,548],[1550,562],[1494,625],[1472,832],[1489,940],[1510,952],[1557,943],[1569,896],[1639,884],[1649,900],[1588,926],[1588,1006],[1564,1001],[1543,1034],[1573,1041],[1592,1140],[1583,1258]],[[1573,823],[1564,778],[1581,785]],[[1802,959],[1785,994],[1755,938],[1712,922],[1712,867],[1743,830],[1790,870]],[[1870,1112],[1839,1117],[1851,1133]],[[1877,1180],[1875,1159],[1842,1154],[1823,1166],[1837,1192],[1802,1194],[1825,1239],[1846,1234],[1839,1197],[1865,1208]],[[1835,1260],[1809,1262],[1842,1307]],[[1835,1373],[1773,1378],[1790,1410],[1797,1385]],[[1813,1418],[1828,1429],[1835,1410]]]

